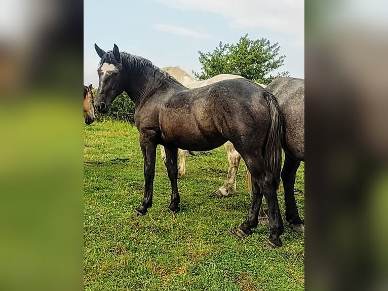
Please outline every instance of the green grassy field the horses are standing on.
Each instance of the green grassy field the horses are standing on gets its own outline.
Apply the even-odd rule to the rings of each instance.
[[[242,162],[237,192],[214,192],[227,174],[223,147],[186,159],[178,180],[181,210],[167,210],[171,186],[158,156],[153,206],[136,216],[144,190],[139,134],[126,123],[84,128],[85,290],[303,290],[304,235],[285,223],[283,246],[269,250],[269,229],[244,239],[229,234],[247,214],[250,197]],[[295,189],[304,219],[304,164]],[[279,202],[284,217],[283,187]],[[302,194],[301,194],[302,193]]]

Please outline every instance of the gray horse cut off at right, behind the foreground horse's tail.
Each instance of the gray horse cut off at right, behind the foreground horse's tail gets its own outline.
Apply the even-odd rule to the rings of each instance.
[[[286,158],[281,177],[286,202],[286,220],[292,229],[304,232],[304,224],[299,217],[294,196],[296,171],[300,162],[304,162],[304,80],[279,78],[271,82],[265,90],[277,97],[285,121],[283,149]],[[249,179],[250,175],[247,175],[247,181]],[[259,220],[263,221],[264,217],[266,215],[260,209]]]

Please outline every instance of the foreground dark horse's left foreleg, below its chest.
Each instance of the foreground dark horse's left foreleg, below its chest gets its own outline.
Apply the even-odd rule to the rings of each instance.
[[[155,160],[157,144],[149,137],[140,135],[140,147],[144,159],[144,198],[135,212],[137,215],[144,215],[152,206],[153,178],[155,176]]]

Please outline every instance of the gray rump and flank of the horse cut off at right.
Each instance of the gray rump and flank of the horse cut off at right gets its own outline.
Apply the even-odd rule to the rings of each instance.
[[[282,77],[266,88],[274,94],[285,120],[285,150],[294,158],[304,161],[304,80]]]

